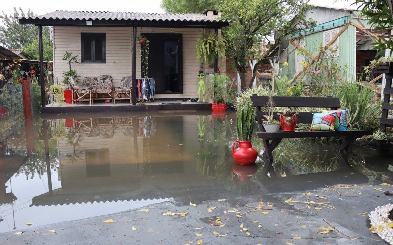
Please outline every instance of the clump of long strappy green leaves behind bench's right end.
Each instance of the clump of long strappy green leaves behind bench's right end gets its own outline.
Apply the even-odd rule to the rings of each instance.
[[[345,82],[330,86],[325,96],[338,97],[342,109],[349,109],[348,126],[350,130],[375,129],[379,126],[382,113],[381,103],[374,101],[375,91],[357,82]]]

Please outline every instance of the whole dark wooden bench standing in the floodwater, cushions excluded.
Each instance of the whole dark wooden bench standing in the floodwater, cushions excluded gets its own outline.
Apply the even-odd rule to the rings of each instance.
[[[265,113],[262,110],[268,101],[267,96],[250,96],[253,106],[256,107],[256,116],[260,132],[257,133],[258,137],[262,139],[265,151],[263,157],[265,162],[269,165],[273,164],[273,150],[280,144],[284,138],[317,138],[317,137],[339,137],[341,144],[337,147],[336,152],[339,153],[341,163],[348,165],[348,156],[352,154],[351,144],[357,138],[363,135],[372,135],[372,130],[348,130],[348,131],[302,131],[302,132],[266,132],[262,121],[265,119]],[[338,98],[319,98],[319,97],[273,97],[277,107],[288,107],[288,108],[329,108],[330,110],[337,110],[341,107],[340,100]],[[312,113],[311,112],[300,112],[298,114],[299,123],[311,123]],[[274,118],[277,120],[278,115],[275,113]],[[346,155],[344,154],[346,152]],[[266,161],[267,160],[267,161]]]

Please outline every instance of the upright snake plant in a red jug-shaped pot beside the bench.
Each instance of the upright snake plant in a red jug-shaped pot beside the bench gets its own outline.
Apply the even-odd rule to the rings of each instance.
[[[255,107],[251,101],[237,105],[236,130],[239,140],[232,143],[232,156],[238,164],[253,164],[258,157],[258,152],[251,145],[255,125]],[[235,149],[236,143],[239,147]]]

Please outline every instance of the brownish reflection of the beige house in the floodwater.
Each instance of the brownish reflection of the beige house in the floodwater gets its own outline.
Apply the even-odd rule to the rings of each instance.
[[[198,175],[197,124],[196,115],[67,119],[58,140],[61,188],[32,205],[187,198],[190,190],[221,189]],[[214,148],[228,151],[227,143]]]

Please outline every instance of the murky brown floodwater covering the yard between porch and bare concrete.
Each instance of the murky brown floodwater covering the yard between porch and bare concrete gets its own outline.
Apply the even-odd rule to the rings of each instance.
[[[388,156],[355,146],[348,169],[339,164],[336,143],[310,139],[282,141],[273,168],[263,168],[262,159],[237,165],[230,152],[236,139],[230,111],[35,117],[0,136],[0,232],[163,201],[182,205],[301,190],[305,184],[317,188],[320,178],[331,184],[393,178]],[[256,137],[253,146],[263,152]]]

